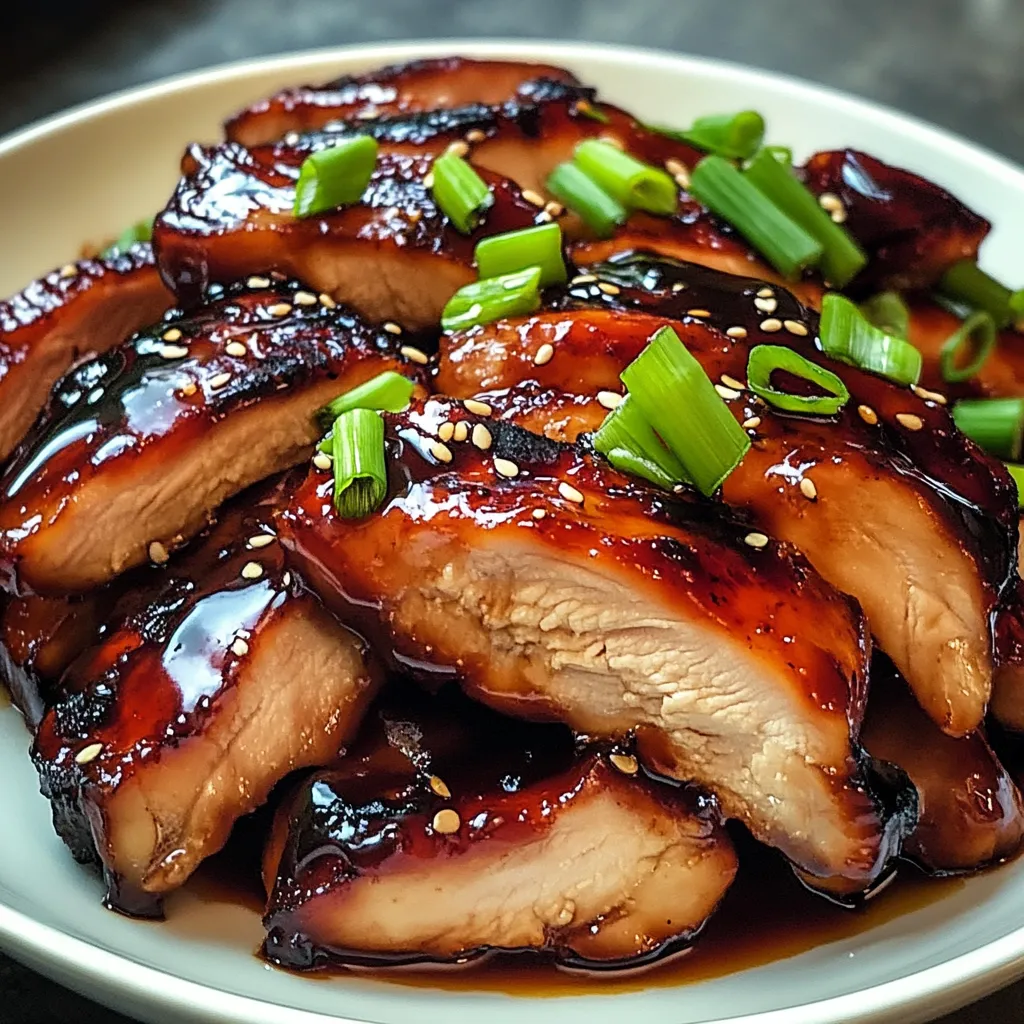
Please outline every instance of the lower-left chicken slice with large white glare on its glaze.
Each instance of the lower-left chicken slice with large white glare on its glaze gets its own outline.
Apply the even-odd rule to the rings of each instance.
[[[276,493],[239,498],[169,565],[37,732],[54,826],[114,909],[159,915],[278,781],[337,758],[373,693],[361,641],[288,569]]]

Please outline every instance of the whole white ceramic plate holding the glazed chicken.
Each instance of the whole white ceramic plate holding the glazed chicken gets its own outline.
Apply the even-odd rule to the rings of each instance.
[[[1024,172],[910,118],[824,89],[727,65],[603,46],[430,43],[258,60],[173,79],[73,111],[0,142],[0,294],[65,262],[84,240],[116,234],[163,205],[183,145],[215,139],[222,117],[278,86],[431,54],[564,65],[642,117],[755,106],[773,141],[798,154],[852,144],[926,173],[992,218],[984,262],[1011,280],[1024,237]],[[524,1002],[369,978],[313,981],[253,955],[256,914],[188,893],[150,925],[99,906],[49,822],[26,756],[28,736],[0,709],[0,944],[72,988],[144,1020],[328,1024],[914,1024],[1024,974],[1024,861],[970,880],[931,905],[855,938],[679,988],[578,992]]]

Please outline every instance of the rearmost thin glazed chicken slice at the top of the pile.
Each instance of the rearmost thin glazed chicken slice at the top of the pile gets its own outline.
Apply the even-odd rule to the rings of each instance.
[[[468,57],[410,60],[365,75],[345,75],[327,85],[283,89],[237,114],[224,129],[232,141],[260,145],[290,132],[317,131],[336,121],[501,103],[528,96],[538,80],[577,82],[570,72],[551,65]]]

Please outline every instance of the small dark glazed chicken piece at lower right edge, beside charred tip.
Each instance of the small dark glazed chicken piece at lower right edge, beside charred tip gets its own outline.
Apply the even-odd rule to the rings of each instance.
[[[1024,806],[981,732],[946,736],[924,715],[891,665],[876,659],[861,740],[918,787],[920,818],[904,853],[934,871],[963,871],[1013,856]]]

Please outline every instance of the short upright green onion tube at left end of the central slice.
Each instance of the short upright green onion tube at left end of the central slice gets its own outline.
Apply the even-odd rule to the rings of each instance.
[[[384,420],[372,409],[350,409],[334,421],[334,507],[345,519],[376,511],[387,494]]]

